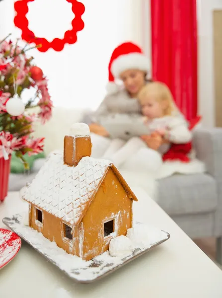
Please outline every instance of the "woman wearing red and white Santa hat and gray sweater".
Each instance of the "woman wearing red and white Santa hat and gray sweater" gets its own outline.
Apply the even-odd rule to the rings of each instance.
[[[94,114],[94,123],[90,125],[93,157],[113,156],[113,152],[123,147],[125,142],[110,140],[109,134],[99,123],[117,113],[124,117],[141,117],[141,107],[137,96],[141,89],[149,83],[149,71],[148,58],[137,45],[130,42],[123,43],[114,50],[109,63],[108,94]],[[115,84],[116,79],[122,80],[122,88]],[[174,111],[175,115],[183,117],[175,104]],[[156,190],[156,178],[170,176],[175,172],[204,172],[204,164],[198,160],[186,164],[180,164],[178,160],[175,160],[174,164],[173,160],[178,153],[181,153],[177,152],[181,151],[181,148],[174,148],[171,144],[166,144],[166,147],[169,148],[170,145],[167,153],[170,153],[168,157],[172,163],[163,165],[162,156],[157,150],[166,142],[158,133],[153,136],[141,136],[141,139],[144,141],[143,146],[144,144],[147,146],[139,150],[135,148],[136,153],[131,155],[127,162],[121,164],[119,168],[129,185],[141,186],[153,196]],[[139,141],[141,140],[139,139]],[[183,154],[187,154],[189,150],[190,148],[182,148]]]

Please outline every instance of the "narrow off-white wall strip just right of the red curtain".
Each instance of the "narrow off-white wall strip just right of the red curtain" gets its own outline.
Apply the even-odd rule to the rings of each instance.
[[[198,0],[199,114],[203,125],[215,126],[213,10],[222,9],[222,0]]]

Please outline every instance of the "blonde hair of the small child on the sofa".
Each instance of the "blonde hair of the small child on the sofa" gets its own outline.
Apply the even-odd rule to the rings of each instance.
[[[170,116],[175,111],[173,95],[166,84],[162,82],[150,82],[146,84],[138,94],[139,102],[146,103],[148,96],[152,96],[158,102],[165,100],[167,107],[164,109],[164,116]]]

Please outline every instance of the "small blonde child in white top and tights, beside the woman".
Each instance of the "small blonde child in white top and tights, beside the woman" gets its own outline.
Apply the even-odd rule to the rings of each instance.
[[[162,145],[156,148],[160,154],[169,149],[170,143],[186,144],[192,139],[187,123],[176,108],[172,94],[164,83],[150,82],[146,84],[140,91],[138,100],[142,108],[142,117],[144,117],[145,125],[148,127],[149,136],[132,138],[117,151],[113,150],[111,144],[103,157],[111,159],[117,167],[121,166],[142,148],[149,149],[149,155],[152,158],[153,149],[148,147],[149,143],[156,138],[162,139]],[[114,148],[115,142],[120,141],[113,141]],[[159,144],[159,142],[157,143]]]

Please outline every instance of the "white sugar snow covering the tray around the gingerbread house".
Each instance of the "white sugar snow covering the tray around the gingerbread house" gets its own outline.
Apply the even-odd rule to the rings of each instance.
[[[146,247],[141,247],[138,250],[134,250],[133,254],[126,257],[112,257],[109,251],[95,257],[93,260],[84,261],[81,258],[68,254],[65,250],[59,248],[55,242],[49,241],[41,233],[36,230],[25,226],[21,223],[23,215],[16,215],[18,221],[11,219],[6,224],[10,226],[17,234],[24,238],[31,246],[37,251],[42,253],[47,259],[63,270],[67,275],[75,280],[84,282],[92,281],[96,278],[103,276],[117,266],[123,264],[125,261],[131,259],[133,256],[140,254],[142,251],[150,248],[152,243],[160,242],[168,239],[166,232],[160,231],[152,227],[145,228],[144,232],[149,231],[149,239],[151,242],[147,242]],[[134,231],[137,231],[136,229]],[[146,238],[146,235],[144,235]],[[137,245],[138,246],[138,245]]]

